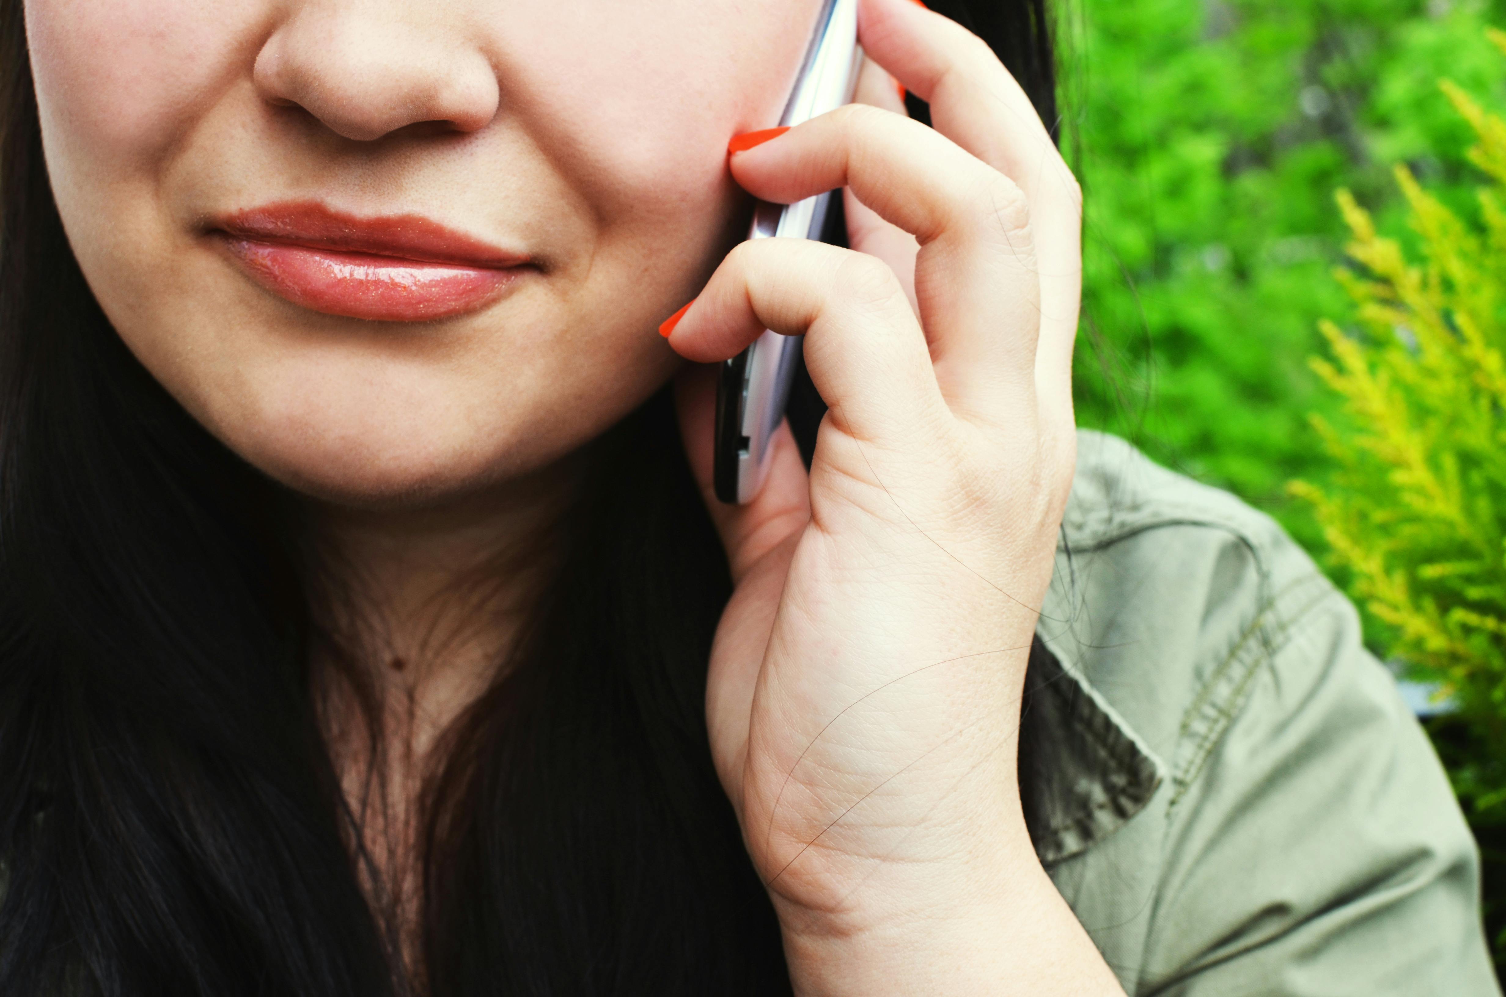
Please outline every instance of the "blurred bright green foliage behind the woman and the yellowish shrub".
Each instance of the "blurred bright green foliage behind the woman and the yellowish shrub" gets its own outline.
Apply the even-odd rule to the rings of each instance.
[[[1476,136],[1438,81],[1506,110],[1506,59],[1485,33],[1506,24],[1506,0],[1066,0],[1059,17],[1063,149],[1086,193],[1078,422],[1273,514],[1363,592],[1288,491],[1336,480],[1309,416],[1352,425],[1309,366],[1331,355],[1319,319],[1355,328],[1333,277],[1352,268],[1334,191],[1411,259],[1426,247],[1395,164],[1479,223]],[[1366,613],[1381,658],[1405,649],[1395,637]],[[1506,724],[1506,702],[1471,703]],[[1471,803],[1461,777],[1483,741],[1468,715],[1428,727]],[[1506,821],[1473,804],[1470,816],[1500,970]]]

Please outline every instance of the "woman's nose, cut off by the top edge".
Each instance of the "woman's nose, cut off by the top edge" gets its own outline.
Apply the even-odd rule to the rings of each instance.
[[[256,54],[264,99],[373,142],[419,122],[477,131],[497,114],[497,74],[446,3],[298,5]]]

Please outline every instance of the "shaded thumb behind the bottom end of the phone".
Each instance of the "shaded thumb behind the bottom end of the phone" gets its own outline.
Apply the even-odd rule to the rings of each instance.
[[[810,483],[789,423],[770,440],[764,488],[742,506],[720,502],[712,488],[712,438],[717,419],[718,363],[688,364],[675,380],[675,410],[685,456],[732,566],[732,583],[810,521]]]

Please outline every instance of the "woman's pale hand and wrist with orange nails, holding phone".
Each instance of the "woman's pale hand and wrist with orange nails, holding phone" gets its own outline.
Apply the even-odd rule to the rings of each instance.
[[[905,0],[864,0],[860,36],[935,130],[895,113],[870,65],[869,105],[736,154],[765,200],[846,187],[852,250],[744,242],[670,336],[715,363],[764,328],[806,333],[830,407],[809,476],[786,426],[764,491],[732,508],[711,492],[714,372],[679,386],[735,581],[712,753],[803,991],[1110,992],[1015,770],[1075,453],[1078,188],[977,38]]]

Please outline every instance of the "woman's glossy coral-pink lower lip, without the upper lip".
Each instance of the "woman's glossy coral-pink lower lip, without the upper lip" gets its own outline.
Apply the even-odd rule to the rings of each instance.
[[[476,312],[501,297],[521,270],[431,264],[239,236],[229,236],[224,244],[247,274],[273,294],[325,315],[378,322],[423,322]]]

